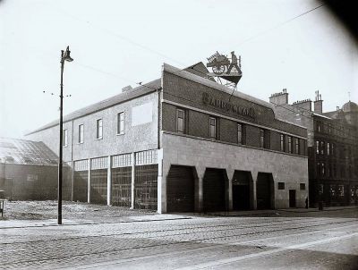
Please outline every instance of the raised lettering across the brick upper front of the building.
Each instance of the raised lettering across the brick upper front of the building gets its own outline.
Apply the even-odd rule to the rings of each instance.
[[[237,114],[255,119],[255,111],[252,108],[236,105],[234,103],[227,102],[222,99],[211,97],[208,93],[202,93],[202,103],[204,105],[216,107],[218,109],[226,111],[227,113]]]

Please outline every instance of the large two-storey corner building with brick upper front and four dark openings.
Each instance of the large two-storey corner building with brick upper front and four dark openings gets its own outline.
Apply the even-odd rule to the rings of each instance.
[[[199,71],[199,72],[198,72]],[[158,213],[304,207],[307,129],[202,63],[64,117],[72,200]],[[28,137],[58,152],[58,123]]]

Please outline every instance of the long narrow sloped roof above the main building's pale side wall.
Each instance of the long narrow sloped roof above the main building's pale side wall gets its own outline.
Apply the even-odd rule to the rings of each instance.
[[[88,105],[84,108],[81,108],[80,110],[72,112],[71,114],[64,115],[64,122],[68,122],[73,119],[80,118],[81,116],[101,111],[103,109],[106,109],[107,107],[122,103],[124,101],[130,100],[135,97],[141,97],[142,95],[146,95],[150,92],[156,91],[157,89],[160,88],[160,86],[161,86],[161,79],[152,80],[149,83],[143,84],[135,89],[122,92],[113,97],[108,97],[107,99],[99,101],[98,103]],[[58,124],[58,120],[49,122],[46,125],[38,128],[35,131],[31,131],[26,135],[30,135],[38,131],[46,130],[48,128],[56,126],[57,124]]]

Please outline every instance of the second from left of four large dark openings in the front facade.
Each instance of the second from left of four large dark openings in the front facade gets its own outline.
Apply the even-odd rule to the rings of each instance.
[[[204,211],[225,211],[226,172],[207,168],[203,180]]]

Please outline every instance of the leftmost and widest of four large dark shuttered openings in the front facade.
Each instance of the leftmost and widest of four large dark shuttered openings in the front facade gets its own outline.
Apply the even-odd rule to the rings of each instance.
[[[192,167],[172,165],[166,177],[166,211],[194,212]]]

